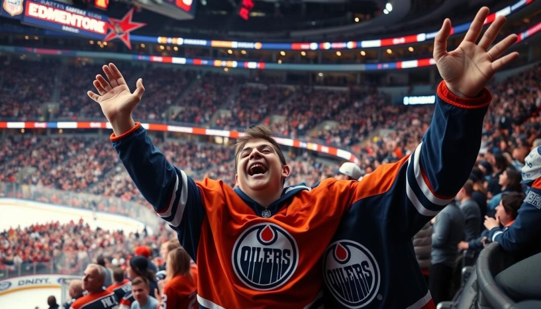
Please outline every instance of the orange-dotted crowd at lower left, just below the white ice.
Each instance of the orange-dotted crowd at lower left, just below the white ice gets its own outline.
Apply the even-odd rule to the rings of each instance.
[[[81,273],[81,267],[100,255],[109,260],[129,260],[136,247],[147,246],[157,252],[160,244],[173,236],[163,224],[152,235],[146,231],[127,234],[91,229],[83,219],[10,227],[0,232],[0,268],[39,263],[50,271]]]

